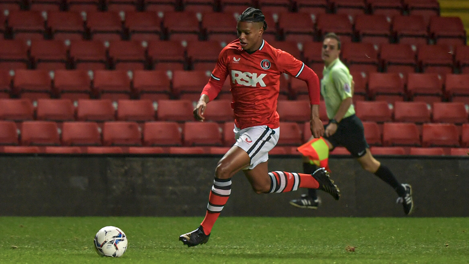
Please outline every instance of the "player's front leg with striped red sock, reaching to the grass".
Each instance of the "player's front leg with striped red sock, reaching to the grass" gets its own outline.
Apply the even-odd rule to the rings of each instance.
[[[221,210],[231,194],[231,177],[250,164],[250,157],[242,148],[233,146],[219,160],[215,169],[215,179],[209,194],[207,211],[200,226],[189,233],[182,234],[179,240],[188,247],[204,244],[210,238],[210,233]]]

